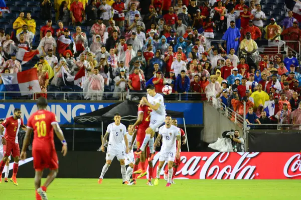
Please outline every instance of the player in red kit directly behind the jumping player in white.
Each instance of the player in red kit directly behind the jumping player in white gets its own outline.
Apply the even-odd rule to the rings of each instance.
[[[136,130],[132,137],[132,142],[131,142],[132,144],[131,144],[130,148],[132,148],[135,137],[137,137],[136,138],[137,148],[141,147],[144,137],[145,137],[145,130],[149,126],[150,112],[152,112],[152,108],[150,108],[147,105],[140,105],[138,107],[138,118],[137,118],[136,122],[134,123],[134,125],[132,126],[132,128],[135,127]],[[130,131],[132,131],[132,129]],[[130,183],[128,183],[129,185],[136,184],[136,174],[140,173],[140,175],[138,175],[137,178],[143,177],[144,175],[147,174],[147,172],[145,170],[145,159],[149,155],[149,153],[150,153],[149,147],[147,146],[144,153],[141,153],[140,157],[136,158],[135,163],[134,163],[134,168],[133,168],[133,179],[130,181]],[[141,165],[141,169],[137,170],[139,162]],[[150,161],[148,161],[148,181],[146,183],[147,185],[153,185],[152,177],[153,177],[153,161],[150,160]]]

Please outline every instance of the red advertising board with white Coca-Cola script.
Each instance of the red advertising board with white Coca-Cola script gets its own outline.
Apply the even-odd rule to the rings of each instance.
[[[154,176],[160,153],[154,158]],[[164,169],[167,168],[167,162]],[[161,171],[163,175],[164,170]],[[176,178],[301,179],[300,152],[181,152]]]

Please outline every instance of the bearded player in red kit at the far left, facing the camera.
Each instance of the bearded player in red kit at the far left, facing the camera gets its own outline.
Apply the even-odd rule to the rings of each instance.
[[[26,128],[21,118],[22,111],[20,108],[14,109],[14,116],[8,117],[1,124],[4,128],[6,128],[5,135],[3,135],[3,130],[0,128],[0,137],[2,137],[4,156],[0,162],[0,174],[4,169],[5,163],[8,161],[9,156],[13,155],[14,157],[14,166],[13,166],[13,176],[11,181],[14,182],[15,185],[18,185],[17,182],[17,172],[19,168],[19,160],[20,160],[20,147],[18,143],[18,132],[20,128]],[[2,182],[2,176],[0,176],[0,182]]]

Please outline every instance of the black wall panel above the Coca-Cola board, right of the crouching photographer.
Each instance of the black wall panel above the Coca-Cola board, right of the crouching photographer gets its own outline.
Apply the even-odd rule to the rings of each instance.
[[[263,130],[248,131],[248,150],[259,152],[300,152],[301,133],[297,130],[273,130],[264,132]]]

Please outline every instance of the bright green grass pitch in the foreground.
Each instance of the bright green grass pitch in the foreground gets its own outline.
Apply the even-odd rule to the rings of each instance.
[[[43,179],[45,180],[45,179]],[[43,183],[42,180],[42,183]],[[57,178],[47,190],[48,199],[299,199],[300,180],[198,180],[175,179],[176,184],[165,187],[160,179],[158,186],[146,185],[138,179],[136,185],[123,185],[121,179]],[[0,184],[0,199],[35,199],[34,179],[18,178]]]

